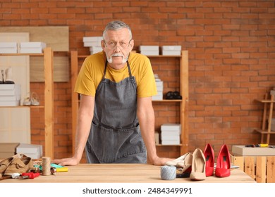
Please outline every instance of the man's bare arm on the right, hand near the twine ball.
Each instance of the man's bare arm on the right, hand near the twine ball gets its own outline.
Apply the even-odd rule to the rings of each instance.
[[[138,98],[138,120],[140,122],[140,131],[142,139],[147,148],[149,163],[153,165],[165,165],[169,158],[159,158],[157,155],[154,141],[154,109],[152,98]]]

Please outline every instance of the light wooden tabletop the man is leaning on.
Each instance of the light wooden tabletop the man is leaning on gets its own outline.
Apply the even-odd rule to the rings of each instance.
[[[4,179],[1,183],[183,183],[194,182],[190,178],[162,180],[160,166],[147,164],[80,164],[68,166],[68,172],[35,179]],[[196,183],[255,183],[240,169],[231,170],[230,177],[207,177]]]

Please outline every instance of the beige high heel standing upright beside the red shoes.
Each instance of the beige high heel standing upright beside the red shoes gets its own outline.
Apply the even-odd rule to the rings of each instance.
[[[205,157],[200,148],[193,152],[192,170],[190,179],[194,181],[201,181],[206,179],[205,176]]]

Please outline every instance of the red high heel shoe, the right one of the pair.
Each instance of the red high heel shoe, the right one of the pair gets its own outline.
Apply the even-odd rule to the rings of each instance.
[[[221,146],[218,158],[216,160],[216,177],[229,177],[230,176],[230,154],[226,144]]]

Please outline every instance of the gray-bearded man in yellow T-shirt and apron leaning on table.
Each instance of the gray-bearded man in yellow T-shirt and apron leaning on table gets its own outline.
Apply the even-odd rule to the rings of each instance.
[[[165,165],[154,144],[152,96],[157,94],[151,63],[131,53],[130,27],[108,23],[103,51],[88,56],[79,72],[75,91],[81,94],[72,158],[53,160],[77,165],[85,149],[88,163],[149,163]]]

